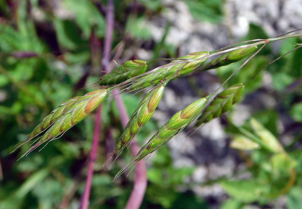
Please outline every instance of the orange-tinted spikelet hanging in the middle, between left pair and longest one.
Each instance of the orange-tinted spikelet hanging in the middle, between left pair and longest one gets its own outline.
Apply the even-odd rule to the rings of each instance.
[[[104,167],[105,164],[108,163],[114,153],[116,153],[120,149],[122,151],[126,147],[126,145],[134,138],[134,136],[136,136],[137,133],[140,132],[140,129],[151,119],[157,105],[159,104],[160,99],[162,98],[164,88],[165,87],[163,85],[156,86],[142,99],[142,101],[138,105],[138,108],[133,112],[124,132],[117,140],[116,147],[102,167]]]

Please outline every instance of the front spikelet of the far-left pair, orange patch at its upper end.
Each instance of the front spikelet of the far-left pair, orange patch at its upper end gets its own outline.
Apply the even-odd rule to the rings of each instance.
[[[33,145],[21,158],[48,140],[54,140],[65,133],[72,126],[81,122],[93,111],[107,95],[106,89],[89,92],[75,101],[69,103],[68,108],[53,122],[53,125],[44,133],[40,140]]]

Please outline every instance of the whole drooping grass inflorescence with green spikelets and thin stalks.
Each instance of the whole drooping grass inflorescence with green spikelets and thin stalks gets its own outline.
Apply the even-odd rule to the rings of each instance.
[[[75,124],[82,121],[92,110],[100,105],[107,93],[113,89],[122,88],[122,93],[126,93],[152,87],[153,89],[142,99],[137,109],[133,112],[124,132],[117,141],[116,147],[105,162],[106,164],[113,154],[118,150],[122,151],[127,143],[131,142],[133,137],[150,120],[162,97],[164,86],[169,81],[175,80],[178,77],[185,76],[194,71],[208,70],[227,65],[242,60],[246,56],[253,53],[234,73],[229,76],[229,78],[220,86],[222,87],[268,42],[290,37],[297,37],[301,36],[302,34],[285,35],[287,34],[271,39],[254,39],[246,42],[240,42],[237,44],[248,44],[239,46],[235,46],[236,44],[233,44],[215,51],[194,52],[180,58],[168,59],[172,61],[147,72],[146,70],[148,64],[156,61],[157,59],[151,61],[126,61],[112,70],[111,73],[108,73],[100,78],[99,85],[104,85],[104,89],[89,92],[84,96],[74,97],[63,102],[58,108],[44,118],[44,120],[31,132],[28,138],[24,142],[21,142],[18,147],[32,139],[39,139],[39,135],[43,133],[43,135],[40,136],[40,140],[24,154],[26,155],[44,142],[51,141],[62,136],[63,133],[65,133]],[[299,45],[295,49],[300,47],[302,47],[302,45]],[[291,51],[288,53],[290,52]],[[221,56],[208,63],[205,62],[209,57],[215,55]],[[284,55],[280,56],[279,58],[283,57]],[[274,61],[278,60],[279,58],[275,59]],[[162,60],[167,59],[164,58]],[[265,67],[267,67],[267,65]],[[263,70],[265,67],[263,67],[261,70]],[[261,70],[259,70],[259,72]],[[258,75],[258,73],[256,75]],[[127,164],[127,166],[117,173],[117,176],[119,176],[129,167],[137,164],[138,161],[142,160],[148,154],[153,153],[160,146],[172,139],[173,136],[182,131],[186,126],[188,126],[188,124],[192,123],[192,121],[198,117],[203,109],[204,111],[198,118],[198,122],[195,124],[195,126],[206,123],[228,111],[232,105],[239,101],[239,98],[243,93],[244,86],[250,80],[225,89],[223,92],[218,94],[217,97],[214,98],[210,105],[205,109],[204,106],[206,105],[207,101],[220,89],[220,87],[207,97],[198,99],[197,101],[188,105],[186,108],[178,111],[159,129],[159,131],[149,140],[149,142],[144,145],[143,148],[141,148],[141,150],[129,162],[129,164]]]

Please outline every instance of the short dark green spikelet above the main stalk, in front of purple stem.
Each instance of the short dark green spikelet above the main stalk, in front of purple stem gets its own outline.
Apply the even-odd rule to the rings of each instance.
[[[129,78],[146,72],[148,65],[143,60],[129,60],[111,70],[110,73],[101,77],[99,85],[114,85],[124,82]]]

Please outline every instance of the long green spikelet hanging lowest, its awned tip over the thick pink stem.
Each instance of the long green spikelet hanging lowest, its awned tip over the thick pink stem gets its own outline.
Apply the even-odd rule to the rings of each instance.
[[[148,154],[156,151],[161,145],[167,143],[173,136],[182,131],[188,126],[201,112],[204,105],[207,103],[207,98],[201,98],[194,101],[181,111],[175,113],[167,123],[165,123],[159,131],[149,140],[149,142],[140,149],[137,155],[127,164],[120,172],[117,173],[116,177],[127,170],[129,167],[137,164],[138,161],[142,160]],[[116,178],[115,177],[115,178]]]

